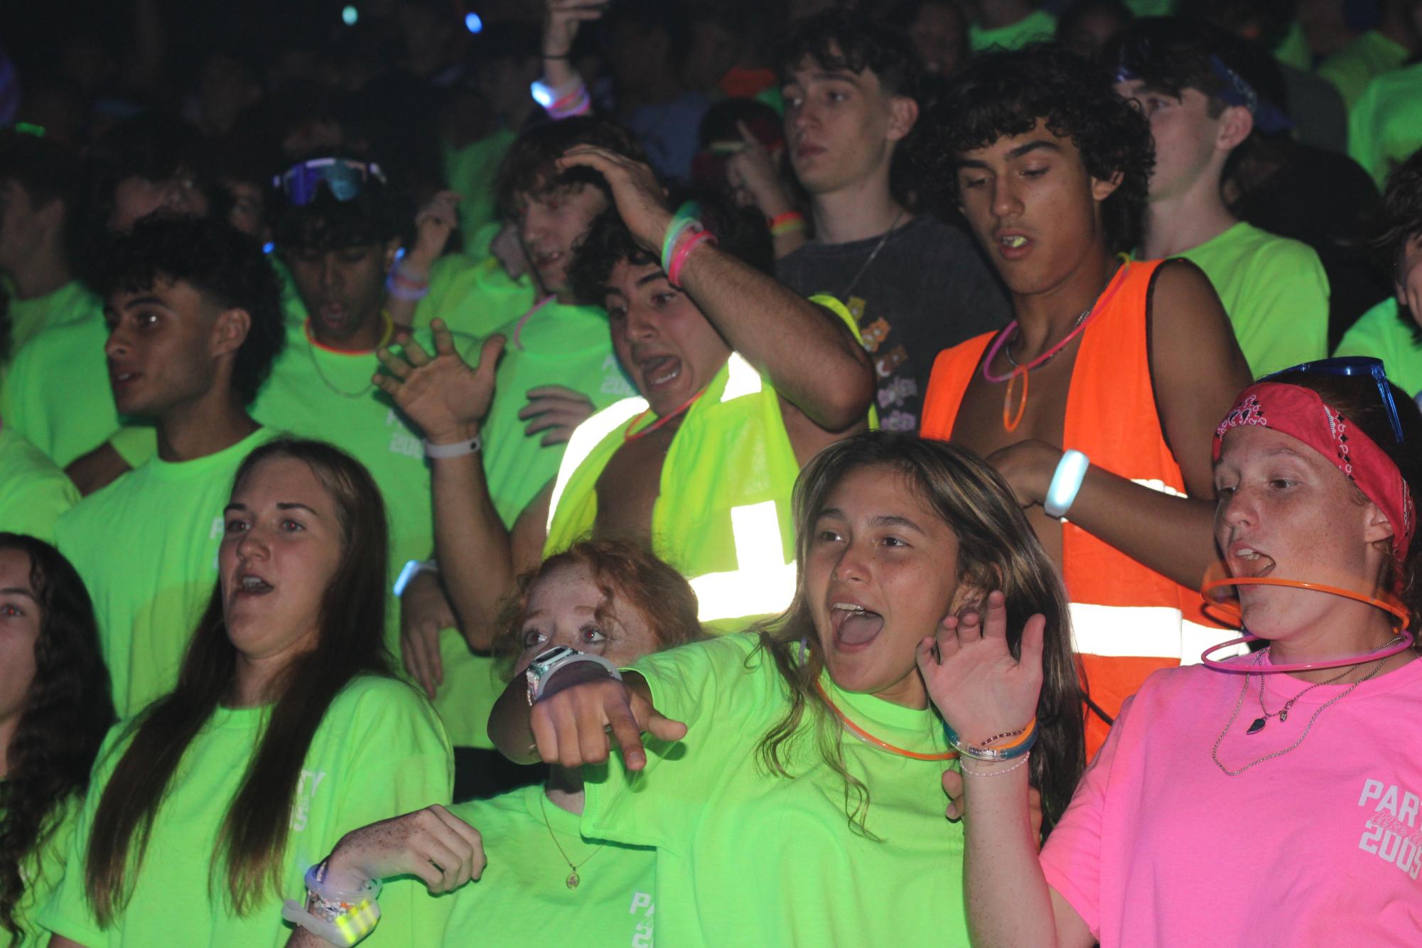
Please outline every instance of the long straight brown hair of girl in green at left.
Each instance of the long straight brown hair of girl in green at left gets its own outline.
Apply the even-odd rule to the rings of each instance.
[[[316,648],[292,659],[273,684],[276,704],[222,822],[209,888],[223,871],[237,915],[269,908],[263,898],[280,885],[290,800],[311,738],[336,695],[358,675],[394,677],[384,644],[388,530],[380,489],[360,462],[331,445],[279,438],[247,455],[233,490],[259,465],[279,458],[306,463],[331,497],[341,526],[341,557],[321,598]],[[112,924],[128,903],[131,873],[142,867],[173,773],[218,705],[230,696],[236,665],[219,583],[188,645],[178,686],[135,719],[134,739],[94,816],[85,887],[100,925]]]

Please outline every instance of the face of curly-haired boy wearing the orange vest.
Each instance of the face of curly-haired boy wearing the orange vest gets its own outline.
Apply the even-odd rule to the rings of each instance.
[[[1092,178],[1069,138],[1038,121],[957,159],[958,200],[1008,290],[1045,293],[1102,246],[1099,203],[1115,185]]]

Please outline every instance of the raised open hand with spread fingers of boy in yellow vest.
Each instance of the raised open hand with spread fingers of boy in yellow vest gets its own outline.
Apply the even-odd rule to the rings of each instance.
[[[434,330],[435,355],[431,358],[414,341],[404,345],[402,354],[383,348],[380,362],[385,372],[375,377],[375,385],[395,399],[431,442],[474,438],[493,401],[493,370],[503,351],[503,337],[485,340],[479,365],[471,368],[455,351],[444,320],[434,320],[429,328]]]

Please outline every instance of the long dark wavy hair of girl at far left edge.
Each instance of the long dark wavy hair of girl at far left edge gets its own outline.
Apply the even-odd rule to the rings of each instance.
[[[34,678],[0,780],[0,928],[24,941],[16,907],[21,866],[40,858],[60,814],[88,789],[94,758],[109,725],[108,668],[100,655],[94,607],[78,573],[58,550],[31,536],[0,533],[0,550],[30,559],[30,588],[40,610]]]

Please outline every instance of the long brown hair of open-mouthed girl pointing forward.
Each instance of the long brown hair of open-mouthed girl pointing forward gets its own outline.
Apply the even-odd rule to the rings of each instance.
[[[886,476],[904,478],[948,524],[958,540],[958,583],[1003,590],[1007,641],[1014,657],[1021,652],[1022,625],[1028,617],[1041,613],[1047,618],[1042,691],[1037,701],[1039,739],[1030,766],[1032,786],[1042,795],[1042,829],[1049,831],[1071,802],[1086,763],[1082,692],[1071,648],[1066,593],[1001,475],[973,452],[939,441],[887,431],[855,435],[820,451],[795,482],[795,553],[801,564],[795,600],[784,615],[761,630],[761,648],[775,659],[789,686],[791,708],[761,739],[762,766],[774,775],[792,776],[791,749],[806,736],[803,725],[809,718],[820,756],[845,780],[845,812],[850,823],[872,836],[866,824],[869,787],[845,766],[839,723],[815,686],[825,669],[825,654],[805,590],[805,563],[809,561],[815,520],[835,485],[863,468],[882,468]]]

